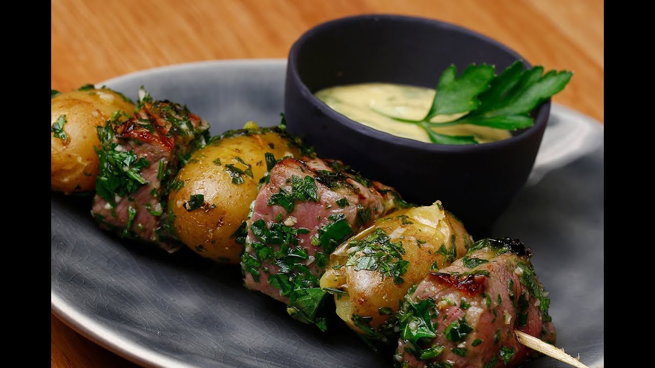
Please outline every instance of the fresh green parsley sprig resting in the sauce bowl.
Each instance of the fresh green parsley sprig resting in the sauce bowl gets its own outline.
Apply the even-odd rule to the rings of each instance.
[[[451,65],[443,71],[437,84],[430,110],[421,120],[409,120],[375,113],[390,119],[421,126],[432,143],[476,144],[474,136],[449,136],[434,131],[459,124],[488,126],[503,130],[519,130],[534,124],[531,111],[548,98],[564,89],[572,77],[571,71],[551,70],[544,67],[523,69],[517,60],[500,75],[493,65],[471,64],[457,77],[457,67]],[[449,122],[432,122],[437,115],[464,114]]]

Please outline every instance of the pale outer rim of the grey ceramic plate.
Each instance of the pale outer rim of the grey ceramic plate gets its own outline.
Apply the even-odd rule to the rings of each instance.
[[[140,71],[132,71],[123,75],[112,77],[97,85],[121,83],[134,77],[153,76],[160,73],[170,73],[181,71],[183,69],[195,68],[208,68],[212,67],[231,67],[236,65],[251,65],[251,66],[286,66],[287,60],[284,58],[242,58],[242,59],[224,59],[224,60],[203,60],[198,62],[187,62],[181,64],[162,65],[159,67],[152,67],[149,69],[142,69]],[[605,139],[605,124],[599,122],[593,117],[589,117],[580,111],[576,111],[571,107],[566,107],[559,103],[553,103],[551,115],[559,115],[562,119],[575,119],[582,121],[589,126],[595,126],[593,129],[599,129],[603,132],[603,139]],[[62,297],[56,293],[54,285],[50,284],[50,310],[54,316],[65,325],[82,335],[84,338],[90,340],[94,344],[98,344],[110,352],[121,356],[132,363],[144,367],[157,367],[157,368],[197,368],[195,365],[190,365],[179,359],[166,356],[160,352],[155,352],[151,349],[144,348],[132,341],[128,341],[121,336],[119,331],[112,331],[103,327],[101,323],[96,322],[90,316],[83,312],[76,310],[73,304],[67,303]],[[604,365],[605,348],[603,346],[603,358],[596,361],[590,367],[603,367]],[[216,361],[218,367],[229,367],[220,361]]]

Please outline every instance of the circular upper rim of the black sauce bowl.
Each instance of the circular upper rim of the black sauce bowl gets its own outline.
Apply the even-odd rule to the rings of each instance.
[[[526,141],[530,138],[532,138],[535,134],[540,134],[540,132],[543,132],[543,130],[546,127],[546,124],[548,123],[548,119],[550,117],[550,107],[551,107],[551,98],[548,98],[548,100],[544,101],[540,106],[536,107],[537,113],[534,116],[534,124],[533,126],[530,126],[529,128],[526,128],[523,130],[523,132],[520,132],[519,134],[512,136],[507,139],[502,139],[500,141],[493,141],[493,142],[488,142],[488,143],[477,143],[477,144],[464,144],[464,145],[448,145],[448,144],[440,144],[440,143],[427,143],[423,141],[417,141],[415,139],[409,139],[409,138],[403,138],[399,136],[394,136],[393,134],[389,134],[386,132],[383,132],[382,130],[377,130],[374,128],[371,128],[369,126],[366,126],[360,122],[357,122],[355,120],[352,120],[345,115],[338,113],[331,107],[329,107],[326,103],[323,101],[319,100],[312,94],[312,92],[309,90],[307,87],[307,84],[303,82],[301,79],[299,73],[298,73],[298,68],[297,68],[297,59],[299,58],[300,54],[300,49],[302,48],[307,41],[312,39],[314,35],[317,33],[322,33],[326,31],[327,29],[331,29],[335,26],[339,26],[341,24],[349,24],[352,22],[377,22],[379,20],[398,20],[401,22],[419,22],[423,24],[428,24],[429,26],[433,26],[436,28],[441,28],[441,29],[446,29],[446,30],[451,30],[451,31],[457,31],[459,33],[464,33],[466,35],[470,35],[472,37],[476,37],[477,39],[481,39],[481,41],[484,41],[486,43],[491,43],[494,46],[501,48],[502,50],[512,54],[515,56],[516,60],[521,60],[525,67],[531,67],[532,65],[521,56],[518,52],[513,50],[507,45],[504,45],[500,43],[499,41],[496,41],[495,39],[492,39],[491,37],[488,37],[486,35],[483,35],[481,33],[478,33],[476,31],[473,31],[472,29],[464,28],[462,26],[458,26],[456,24],[452,24],[449,22],[444,22],[442,20],[436,20],[432,18],[424,18],[424,17],[419,17],[419,16],[407,16],[407,15],[400,15],[400,14],[358,14],[354,16],[346,16],[343,18],[337,18],[333,20],[329,20],[327,22],[323,22],[321,24],[318,24],[301,35],[299,39],[297,39],[293,45],[291,46],[291,49],[289,51],[289,56],[288,56],[288,67],[287,67],[287,78],[291,77],[293,80],[293,83],[298,86],[299,92],[305,100],[308,100],[316,109],[324,113],[327,117],[329,117],[332,120],[336,120],[340,124],[346,126],[346,128],[349,128],[351,130],[354,130],[358,132],[359,134],[363,134],[365,136],[369,136],[371,138],[377,139],[379,141],[384,141],[385,143],[389,143],[394,146],[402,146],[402,147],[411,147],[412,149],[415,149],[417,151],[429,151],[429,152],[434,152],[434,153],[441,153],[441,152],[447,152],[447,153],[470,153],[472,151],[477,151],[477,152],[485,152],[485,151],[490,151],[490,150],[495,150],[495,149],[500,149],[502,147],[506,146],[511,146],[514,144],[520,144],[523,141]],[[287,84],[288,85],[288,84]],[[288,88],[288,87],[286,87]],[[534,111],[534,110],[533,110]],[[539,139],[540,141],[541,139]]]

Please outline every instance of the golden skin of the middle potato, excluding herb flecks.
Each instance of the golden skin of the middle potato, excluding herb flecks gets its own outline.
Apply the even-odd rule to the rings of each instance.
[[[267,171],[264,154],[270,152],[275,158],[298,156],[298,150],[288,143],[276,132],[265,130],[263,134],[223,138],[196,151],[176,177],[178,182],[184,181],[184,186],[172,191],[168,199],[179,240],[202,257],[239,263],[243,245],[231,236],[248,217],[250,203],[257,196],[257,183]],[[236,157],[249,164],[253,174],[240,175],[244,182],[238,185],[226,171],[229,164],[246,169]],[[204,196],[204,204],[187,211],[185,203],[197,194]]]

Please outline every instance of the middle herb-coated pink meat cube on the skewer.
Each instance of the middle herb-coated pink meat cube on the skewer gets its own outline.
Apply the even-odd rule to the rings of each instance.
[[[311,323],[326,295],[319,279],[330,253],[406,202],[340,161],[304,160],[284,158],[265,177],[241,264],[246,287],[288,304],[291,316]],[[322,320],[318,325],[324,327]]]

